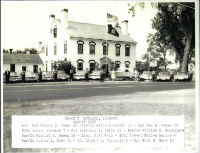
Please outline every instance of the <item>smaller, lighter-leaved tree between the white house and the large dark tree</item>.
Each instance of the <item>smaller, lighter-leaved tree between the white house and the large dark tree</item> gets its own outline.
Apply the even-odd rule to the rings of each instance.
[[[172,63],[166,57],[167,52],[171,51],[171,48],[161,39],[161,34],[159,32],[149,34],[147,36],[147,42],[147,53],[142,57],[143,60],[156,60],[157,67],[164,67],[164,70],[166,71],[167,65]]]

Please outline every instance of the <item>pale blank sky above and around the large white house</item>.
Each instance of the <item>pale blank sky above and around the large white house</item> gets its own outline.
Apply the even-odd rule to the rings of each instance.
[[[154,33],[151,19],[156,9],[149,2],[143,9],[137,7],[134,17],[128,13],[126,1],[2,1],[1,5],[2,49],[37,48],[48,32],[49,15],[60,18],[63,8],[68,9],[69,21],[105,25],[107,13],[118,16],[119,21],[129,20],[129,33],[137,42],[137,60],[147,50],[146,36]]]

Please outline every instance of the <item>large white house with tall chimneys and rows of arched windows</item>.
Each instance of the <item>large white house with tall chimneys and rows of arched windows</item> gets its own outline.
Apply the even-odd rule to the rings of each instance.
[[[107,25],[68,21],[68,10],[61,18],[49,17],[49,34],[46,42],[39,42],[44,70],[52,71],[59,60],[67,60],[76,70],[94,70],[95,67],[115,68],[136,66],[136,42],[128,33],[128,21],[116,28],[119,37],[107,32]]]

